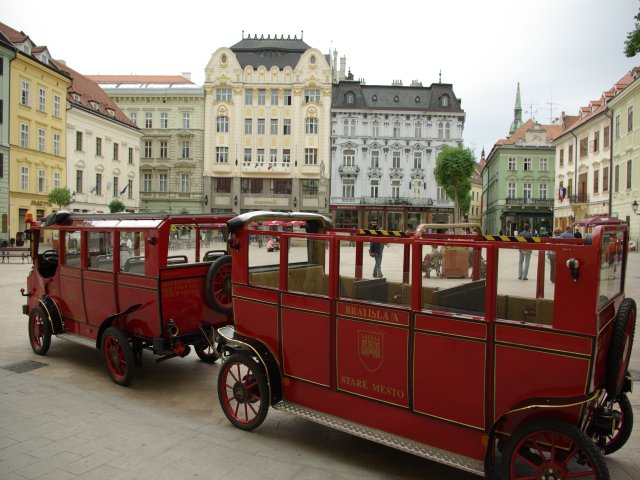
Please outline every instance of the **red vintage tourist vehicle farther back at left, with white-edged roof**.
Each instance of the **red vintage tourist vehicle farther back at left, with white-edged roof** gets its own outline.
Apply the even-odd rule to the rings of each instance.
[[[46,354],[52,335],[98,348],[121,385],[143,350],[160,361],[192,345],[214,362],[215,330],[233,320],[229,218],[60,211],[32,222],[22,293],[33,351]],[[53,248],[42,251],[45,239]]]

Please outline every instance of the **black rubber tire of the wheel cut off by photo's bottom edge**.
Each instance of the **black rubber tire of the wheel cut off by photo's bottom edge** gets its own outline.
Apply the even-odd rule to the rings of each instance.
[[[544,435],[542,441],[535,443],[537,449],[527,447],[526,443],[523,443],[531,441],[530,439],[532,437],[543,433],[546,435]],[[555,439],[550,438],[550,435],[561,436],[562,440],[570,440],[576,446],[575,449],[571,448],[571,451],[577,461],[573,463],[566,462],[568,468],[583,469],[588,465],[591,467],[597,480],[610,480],[611,477],[609,476],[609,469],[607,468],[604,455],[602,455],[602,452],[596,444],[575,425],[556,418],[533,420],[519,427],[513,435],[511,435],[505,446],[504,455],[502,456],[500,478],[521,478],[518,474],[521,473],[522,468],[528,470],[528,472],[524,474],[525,477],[522,478],[547,478],[546,476],[551,477],[553,474],[553,471],[550,472],[549,470],[560,471],[560,468],[556,468],[556,466],[560,467],[565,464],[563,457],[566,453],[565,449],[555,448],[553,451],[558,458],[551,459],[551,461],[548,459],[546,461],[540,461],[541,457],[539,456],[539,452],[543,451],[544,453],[548,453],[550,444],[556,445],[553,443]],[[562,444],[562,446],[565,445]],[[518,449],[517,453],[516,449]],[[521,457],[522,460],[518,461],[518,458],[514,458],[514,456]],[[520,469],[518,469],[518,467],[520,467]],[[557,474],[556,478],[559,478]]]

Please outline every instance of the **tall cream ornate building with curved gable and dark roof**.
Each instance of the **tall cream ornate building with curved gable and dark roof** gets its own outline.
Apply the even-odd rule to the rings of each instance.
[[[244,37],[205,69],[208,211],[328,210],[331,67],[302,38]]]

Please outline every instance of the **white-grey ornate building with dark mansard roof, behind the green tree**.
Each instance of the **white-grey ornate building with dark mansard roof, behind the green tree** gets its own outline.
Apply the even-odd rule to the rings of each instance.
[[[365,227],[375,221],[402,230],[451,221],[453,202],[437,185],[433,170],[443,145],[462,144],[464,120],[451,84],[338,81],[331,120],[331,212],[336,224]]]

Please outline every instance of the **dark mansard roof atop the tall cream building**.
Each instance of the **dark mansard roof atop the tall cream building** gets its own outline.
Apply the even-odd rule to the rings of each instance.
[[[282,70],[284,67],[295,68],[300,57],[311,47],[307,45],[302,38],[284,35],[271,37],[267,35],[258,35],[251,37],[243,37],[241,41],[231,47],[231,51],[236,55],[238,63],[242,68],[247,65],[258,68],[264,65],[265,68],[278,67]]]

